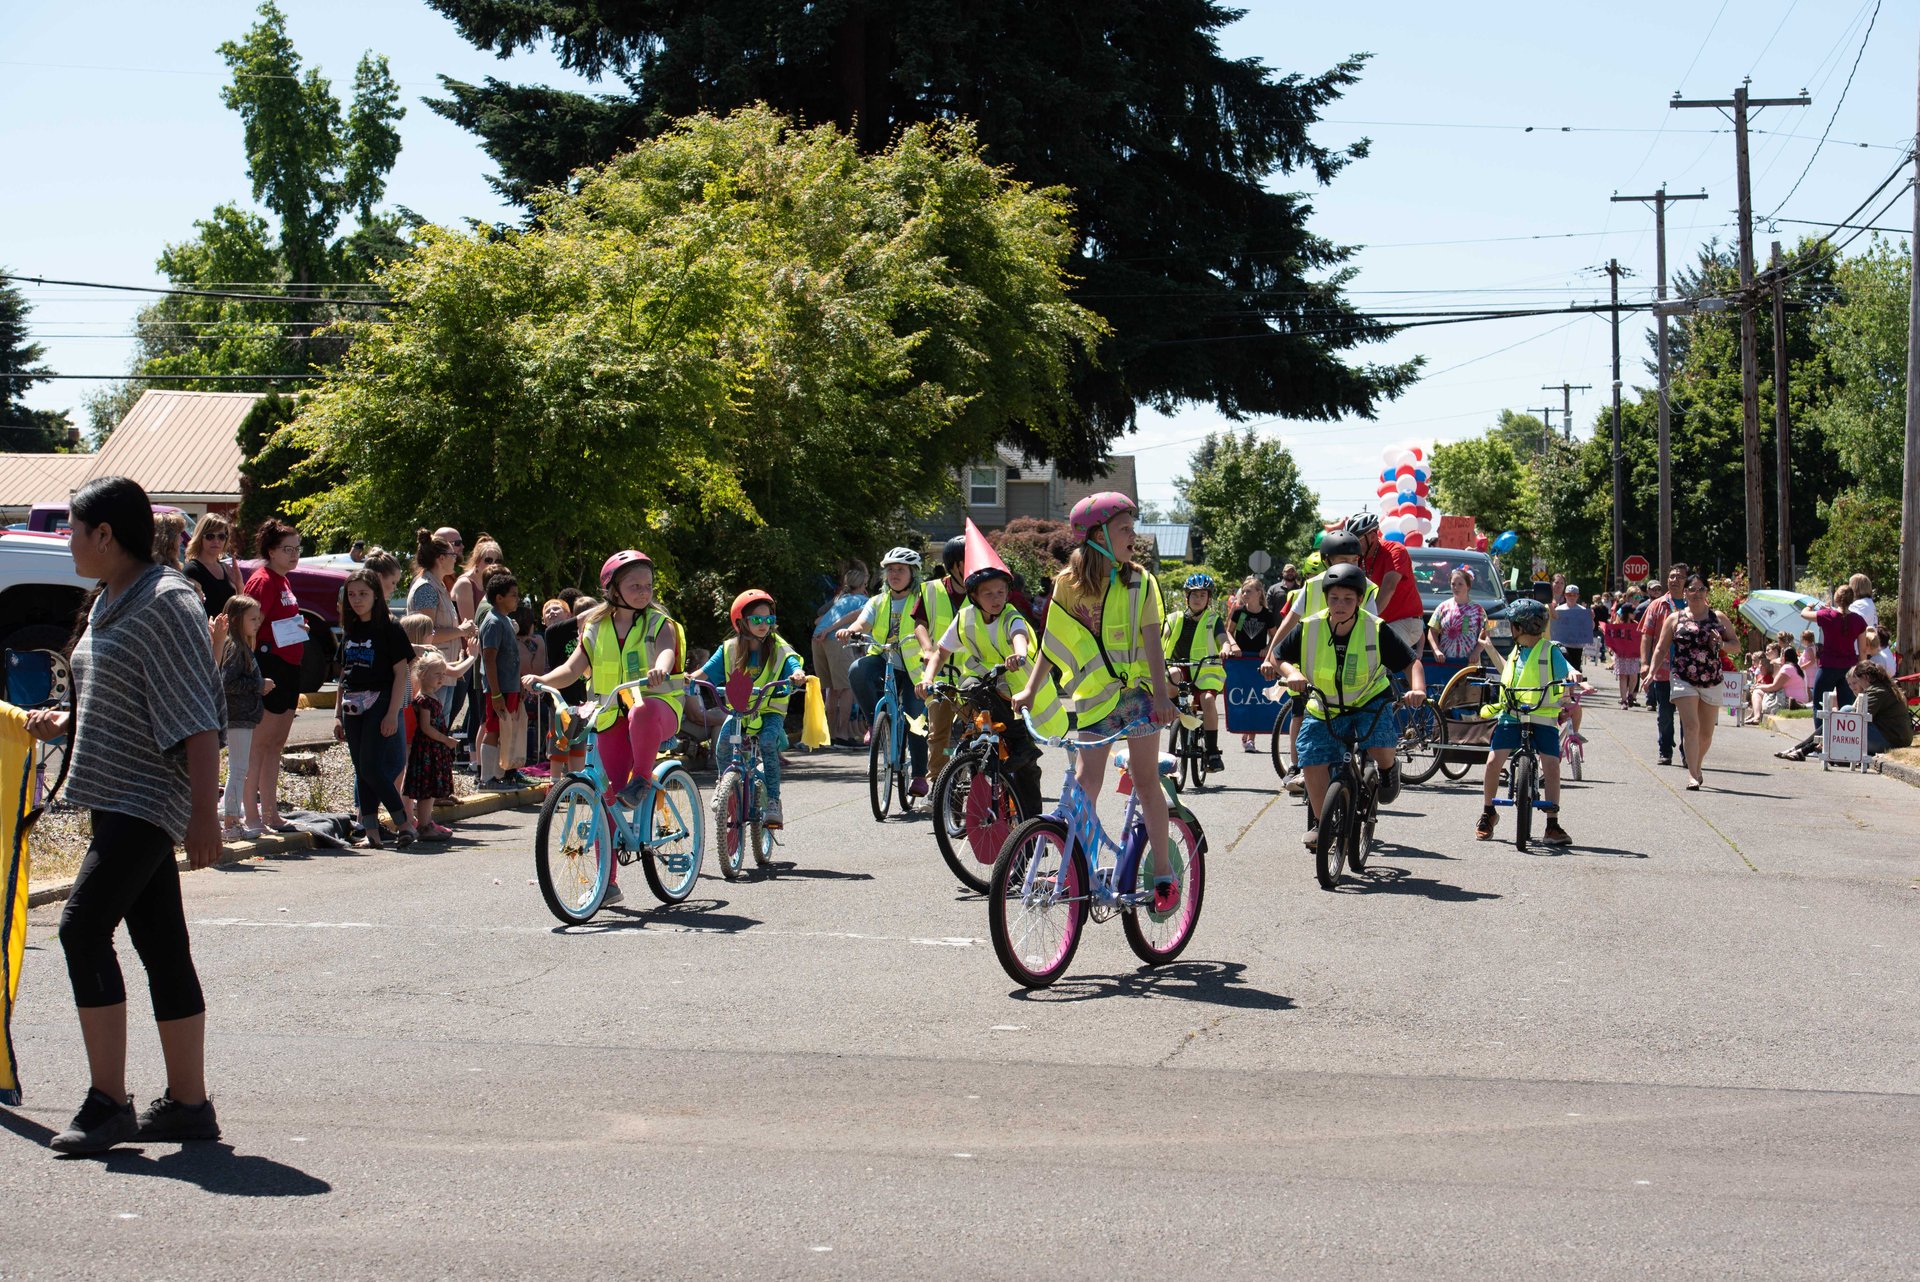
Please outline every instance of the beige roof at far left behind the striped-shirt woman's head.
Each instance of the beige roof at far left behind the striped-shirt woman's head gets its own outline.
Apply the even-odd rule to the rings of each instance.
[[[252,392],[142,392],[96,455],[0,455],[0,507],[65,503],[96,476],[131,476],[156,503],[238,503]]]

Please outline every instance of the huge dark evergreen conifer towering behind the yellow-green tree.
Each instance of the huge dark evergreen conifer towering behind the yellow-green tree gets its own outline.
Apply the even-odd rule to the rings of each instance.
[[[1087,476],[1142,403],[1229,418],[1371,416],[1417,363],[1346,353],[1390,330],[1346,299],[1352,249],[1308,228],[1311,202],[1367,144],[1309,129],[1363,58],[1279,75],[1221,56],[1215,0],[428,0],[480,48],[549,42],[624,92],[444,81],[436,111],[480,134],[499,190],[528,202],[693,111],[766,102],[877,152],[902,127],[977,123],[985,155],[1064,186],[1079,232],[1073,296],[1110,324],[1075,365],[1073,432],[1004,436]]]

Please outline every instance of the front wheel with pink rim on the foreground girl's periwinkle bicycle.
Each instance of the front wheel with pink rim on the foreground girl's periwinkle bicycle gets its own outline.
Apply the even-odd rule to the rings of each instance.
[[[1087,885],[1066,823],[1043,818],[1014,829],[987,885],[987,933],[1008,979],[1044,988],[1066,975],[1087,925]]]

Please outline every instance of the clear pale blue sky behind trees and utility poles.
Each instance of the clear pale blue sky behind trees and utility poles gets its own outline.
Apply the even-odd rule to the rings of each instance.
[[[1688,98],[1812,94],[1812,107],[1770,109],[1753,136],[1753,200],[1782,219],[1837,221],[1899,161],[1914,131],[1914,8],[1887,0],[1866,42],[1832,138],[1791,200],[1847,81],[1874,0],[1622,0],[1619,4],[1283,6],[1242,0],[1225,38],[1235,58],[1315,73],[1371,52],[1363,81],[1329,111],[1317,138],[1373,138],[1373,154],[1311,194],[1313,228],[1365,244],[1354,297],[1363,307],[1478,307],[1488,301],[1603,301],[1596,269],[1619,257],[1628,299],[1651,296],[1653,215],[1613,194],[1705,190],[1676,205],[1668,255],[1684,263],[1734,219],[1734,140],[1713,111],[1672,111]],[[282,0],[296,46],[336,86],[363,50],[384,52],[409,102],[405,150],[388,200],[434,221],[513,217],[486,186],[486,155],[419,104],[434,75],[570,84],[545,52],[501,63],[465,44],[415,0]],[[219,102],[215,46],[252,23],[250,4],[188,0],[0,8],[0,142],[10,196],[0,202],[0,263],[13,271],[152,282],[163,242],[182,240],[217,202],[246,202],[240,125]],[[1532,132],[1524,132],[1534,127]],[[1574,132],[1563,132],[1574,127]],[[1855,144],[1872,144],[1860,148]],[[1292,188],[1284,177],[1277,186]],[[1782,207],[1782,200],[1786,205]],[[1882,225],[1905,226],[1910,202]],[[1791,246],[1816,228],[1761,226]],[[1450,244],[1434,244],[1450,242]],[[132,296],[29,288],[35,330],[60,372],[119,372],[131,353]],[[1626,382],[1645,382],[1645,322],[1622,324]],[[1288,441],[1323,510],[1371,501],[1380,449],[1476,434],[1500,409],[1557,405],[1542,384],[1574,393],[1574,430],[1607,405],[1607,319],[1565,317],[1409,330],[1363,359],[1428,359],[1430,376],[1379,422],[1260,422]],[[77,405],[88,384],[35,390],[38,407]],[[1142,415],[1121,443],[1140,461],[1146,499],[1173,497],[1192,438],[1221,424],[1212,409]]]

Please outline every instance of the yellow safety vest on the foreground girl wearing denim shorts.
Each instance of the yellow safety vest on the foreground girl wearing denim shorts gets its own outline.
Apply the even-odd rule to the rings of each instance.
[[[1131,585],[1108,580],[1100,599],[1096,631],[1060,605],[1054,589],[1046,603],[1046,635],[1041,654],[1060,674],[1060,693],[1041,687],[1033,700],[1033,724],[1044,735],[1062,735],[1068,714],[1075,725],[1098,722],[1114,710],[1127,687],[1148,687],[1144,624],[1160,608],[1160,582],[1146,570],[1135,570]],[[1119,608],[1116,608],[1116,605]],[[1027,677],[1033,683],[1033,677]]]

